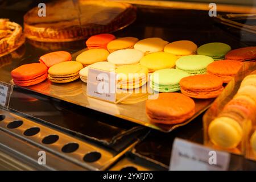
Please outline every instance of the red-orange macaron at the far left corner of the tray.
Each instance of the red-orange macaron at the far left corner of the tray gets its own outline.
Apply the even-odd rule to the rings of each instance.
[[[11,71],[15,85],[31,86],[46,80],[47,67],[42,63],[24,64]]]

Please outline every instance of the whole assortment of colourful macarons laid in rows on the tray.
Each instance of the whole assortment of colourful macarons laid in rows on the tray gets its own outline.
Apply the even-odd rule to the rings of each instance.
[[[188,97],[189,103],[191,98],[217,97],[224,89],[223,84],[228,83],[241,68],[242,61],[256,60],[256,47],[231,50],[228,44],[219,42],[197,47],[189,40],[169,43],[161,38],[139,40],[99,34],[86,40],[86,47],[75,61],[70,53],[59,51],[41,56],[40,63],[22,65],[11,72],[14,83],[29,86],[47,77],[56,83],[79,78],[87,82],[89,68],[117,73],[119,89],[141,88],[149,80],[150,87],[161,92],[161,96],[158,100],[147,101],[146,113],[154,122],[170,124],[177,115],[182,119],[174,119],[173,123],[184,122],[195,111],[195,104],[190,104],[189,109],[181,109],[183,113],[169,109],[166,116],[170,118],[163,118],[150,105],[165,102],[166,97],[171,98],[173,94],[182,94],[177,96],[183,97],[181,100]],[[179,90],[181,93],[172,93]],[[176,108],[179,104],[181,101],[177,101]]]

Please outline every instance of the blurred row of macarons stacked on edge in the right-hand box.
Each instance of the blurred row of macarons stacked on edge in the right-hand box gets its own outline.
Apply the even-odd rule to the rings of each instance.
[[[224,106],[218,117],[210,122],[208,127],[210,141],[224,149],[242,147],[246,132],[253,128],[250,145],[256,152],[255,111],[256,72],[254,71],[243,78],[236,95]]]

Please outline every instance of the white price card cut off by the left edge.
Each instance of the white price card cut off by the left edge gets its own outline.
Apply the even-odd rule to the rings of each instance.
[[[0,81],[0,107],[8,109],[12,93],[13,85]]]

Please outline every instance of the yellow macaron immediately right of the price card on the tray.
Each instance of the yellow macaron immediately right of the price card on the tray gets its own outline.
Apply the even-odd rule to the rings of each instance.
[[[148,69],[140,64],[122,65],[115,72],[117,88],[134,89],[147,83]]]

